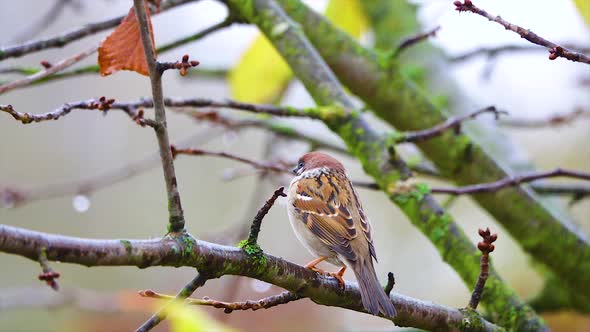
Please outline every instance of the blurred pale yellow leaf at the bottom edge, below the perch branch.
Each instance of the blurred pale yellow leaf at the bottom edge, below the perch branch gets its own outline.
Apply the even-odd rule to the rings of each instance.
[[[172,332],[235,332],[224,326],[199,308],[181,302],[173,302],[167,307],[166,314],[170,320]]]

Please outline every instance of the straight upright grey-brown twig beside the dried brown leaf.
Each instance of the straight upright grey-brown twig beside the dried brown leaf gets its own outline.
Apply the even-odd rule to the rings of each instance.
[[[162,170],[166,182],[166,192],[168,196],[168,231],[181,232],[184,230],[184,212],[180,202],[178,192],[178,181],[174,170],[174,158],[170,151],[170,139],[166,124],[166,110],[164,109],[164,95],[162,91],[162,70],[156,62],[156,54],[150,34],[148,16],[145,9],[144,0],[134,0],[135,14],[139,23],[139,31],[143,42],[143,50],[147,61],[150,83],[152,86],[152,97],[154,101],[154,112],[158,126],[155,127],[158,147],[160,148],[160,157],[162,159]]]

